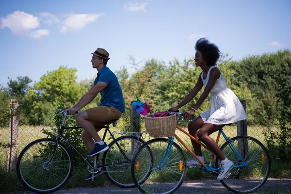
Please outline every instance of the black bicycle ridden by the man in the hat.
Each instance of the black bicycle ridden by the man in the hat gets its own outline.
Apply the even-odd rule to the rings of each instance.
[[[131,178],[130,165],[135,152],[145,143],[140,139],[140,133],[119,133],[127,135],[115,139],[113,134],[117,132],[111,132],[109,125],[113,124],[113,127],[115,127],[118,119],[108,121],[106,126],[96,126],[96,129],[105,128],[103,141],[107,132],[109,132],[113,141],[109,144],[109,149],[103,152],[102,164],[98,159],[100,154],[97,154],[94,157],[95,160],[91,162],[91,157],[82,154],[63,135],[64,129],[81,129],[81,127],[65,127],[65,120],[71,116],[63,109],[59,109],[59,113],[59,115],[64,116],[64,120],[59,131],[54,130],[56,139],[43,138],[35,140],[27,145],[18,157],[17,176],[26,188],[39,194],[53,193],[61,189],[71,178],[74,166],[73,156],[61,140],[65,140],[88,163],[87,170],[92,174],[92,180],[94,180],[96,174],[105,174],[108,180],[118,187],[132,188],[135,186]],[[129,135],[132,133],[135,133],[135,136]],[[149,148],[147,148],[147,151],[152,156]],[[148,159],[149,162],[151,160],[151,158]],[[141,182],[145,181],[149,174],[150,169],[145,178],[141,179]]]

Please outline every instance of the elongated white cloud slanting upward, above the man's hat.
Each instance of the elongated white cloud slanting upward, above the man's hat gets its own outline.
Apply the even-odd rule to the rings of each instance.
[[[61,33],[69,31],[77,31],[84,28],[87,24],[94,22],[98,17],[104,16],[104,14],[75,14],[70,15],[63,22]]]

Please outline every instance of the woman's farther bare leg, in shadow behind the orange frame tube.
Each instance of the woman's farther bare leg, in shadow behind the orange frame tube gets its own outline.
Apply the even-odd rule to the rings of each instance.
[[[188,130],[190,135],[194,136],[198,140],[197,131],[200,129],[204,124],[201,116],[197,116],[193,121],[188,124]],[[191,139],[192,146],[194,148],[194,152],[197,156],[202,156],[201,146],[200,144],[196,143],[193,139]]]

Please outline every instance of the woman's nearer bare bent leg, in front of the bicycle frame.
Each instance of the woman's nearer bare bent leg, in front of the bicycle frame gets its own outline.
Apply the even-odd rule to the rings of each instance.
[[[198,131],[197,136],[199,139],[213,151],[213,153],[219,158],[219,160],[225,160],[226,157],[220,150],[216,142],[209,136],[211,133],[218,131],[223,128],[225,125],[214,125],[210,123],[205,123],[201,129]]]

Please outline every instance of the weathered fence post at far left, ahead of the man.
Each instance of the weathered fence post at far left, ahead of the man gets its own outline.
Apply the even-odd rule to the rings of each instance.
[[[10,133],[9,133],[9,145],[8,150],[8,161],[7,161],[7,170],[16,167],[17,160],[17,141],[18,141],[18,124],[19,124],[19,115],[18,108],[19,102],[16,99],[10,101]]]

